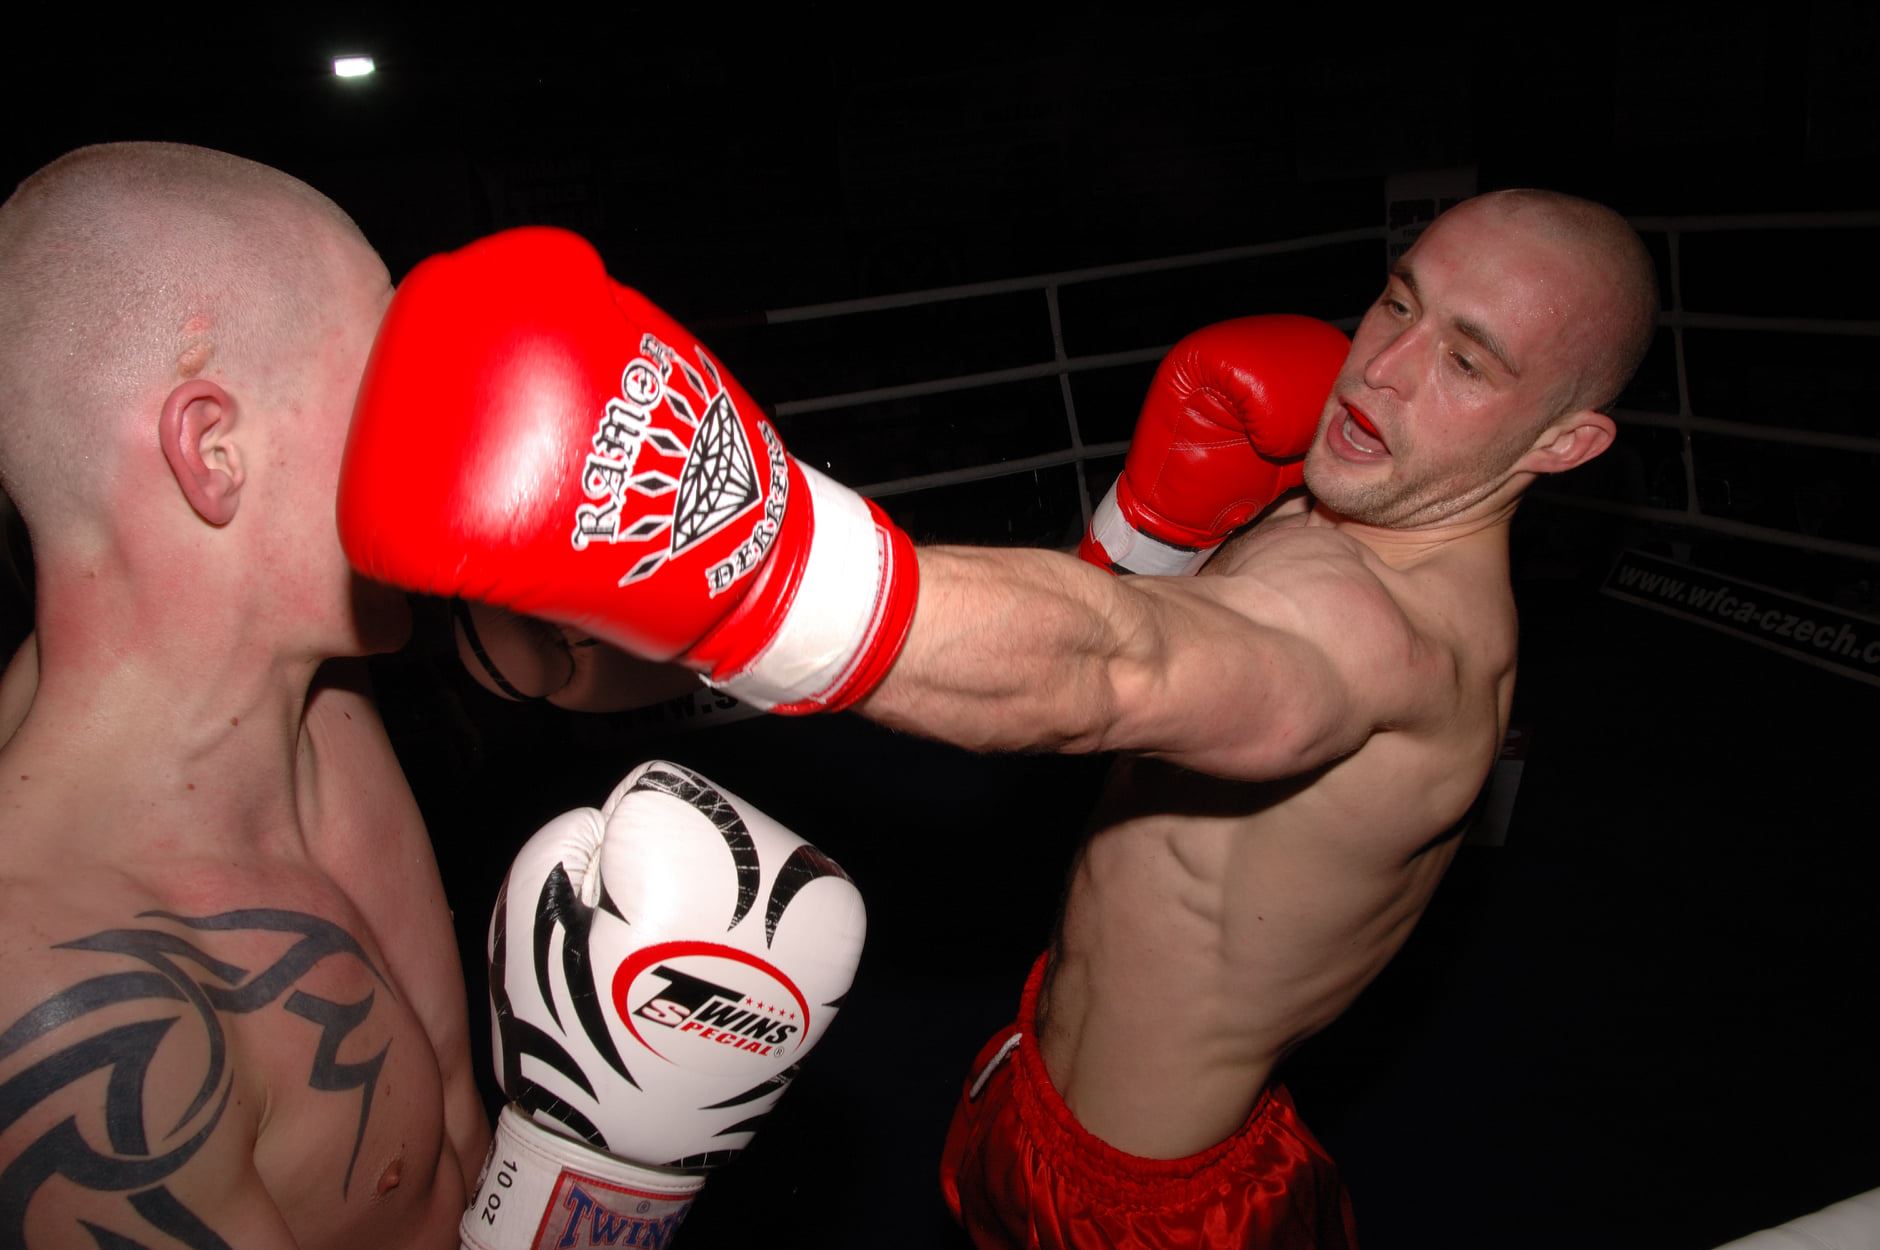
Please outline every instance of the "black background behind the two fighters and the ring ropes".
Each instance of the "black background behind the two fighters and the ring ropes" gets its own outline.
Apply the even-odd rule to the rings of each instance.
[[[788,333],[763,310],[1380,226],[1386,179],[1408,171],[1474,165],[1483,190],[1634,218],[1871,211],[1876,34],[1854,4],[192,9],[17,39],[0,182],[102,139],[220,147],[327,192],[395,278],[491,229],[570,226],[784,402],[1051,344],[996,299]],[[380,73],[335,81],[346,51]],[[1876,258],[1874,229],[1686,235],[1684,306],[1871,323]],[[1066,346],[1273,308],[1350,318],[1384,256],[1301,265],[1098,284],[1066,303]],[[1677,412],[1662,338],[1628,408]],[[1871,335],[1684,338],[1698,415],[1880,436]],[[1089,442],[1126,436],[1147,372],[1077,382]],[[1049,449],[1057,404],[1055,383],[1008,387],[784,436],[867,485]],[[1288,1068],[1369,1250],[1701,1248],[1880,1184],[1880,692],[1598,594],[1630,545],[1880,615],[1874,566],[1560,498],[1681,509],[1679,453],[1675,430],[1632,425],[1519,515],[1528,756],[1508,842],[1463,850],[1397,962]],[[1709,515],[1880,547],[1872,445],[1698,436],[1694,455]],[[1113,470],[1089,466],[1092,496]],[[921,539],[1064,545],[1075,474],[884,506]],[[474,996],[509,848],[654,754],[816,840],[870,900],[848,1011],[681,1244],[955,1246],[946,1117],[1047,936],[1104,761],[970,758],[852,716],[500,705],[438,637],[378,680]]]

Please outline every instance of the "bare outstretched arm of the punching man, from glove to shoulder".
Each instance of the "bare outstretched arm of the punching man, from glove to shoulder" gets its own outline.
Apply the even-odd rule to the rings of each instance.
[[[906,650],[859,705],[974,750],[1132,750],[1297,776],[1453,694],[1339,539],[1203,577],[1111,577],[1049,551],[929,547]]]

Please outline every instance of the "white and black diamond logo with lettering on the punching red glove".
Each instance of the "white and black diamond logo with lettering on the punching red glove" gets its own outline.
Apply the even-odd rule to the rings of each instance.
[[[590,504],[575,508],[570,543],[585,551],[590,541],[652,547],[617,585],[650,577],[669,558],[726,530],[739,517],[763,504],[737,549],[713,564],[705,581],[711,594],[722,594],[737,579],[758,568],[782,524],[790,498],[790,461],[767,421],[760,421],[765,445],[769,491],[760,487],[758,461],[705,350],[699,367],[652,335],[639,340],[639,355],[620,372],[620,395],[607,400],[592,451],[581,466],[581,491]],[[673,385],[684,380],[692,397]],[[662,410],[669,415],[662,417]],[[682,438],[682,434],[690,438]],[[641,468],[647,453],[681,461],[679,476],[660,468]],[[652,511],[630,519],[634,496],[658,500]],[[669,496],[669,502],[667,502]],[[667,536],[664,545],[656,545]]]

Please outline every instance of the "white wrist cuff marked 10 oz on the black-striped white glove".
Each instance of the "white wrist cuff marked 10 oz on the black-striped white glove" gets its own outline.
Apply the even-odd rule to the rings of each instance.
[[[628,1164],[508,1105],[459,1233],[466,1250],[664,1246],[701,1188],[699,1173]]]

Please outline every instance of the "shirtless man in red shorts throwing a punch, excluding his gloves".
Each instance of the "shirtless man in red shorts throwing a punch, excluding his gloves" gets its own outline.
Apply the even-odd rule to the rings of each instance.
[[[1365,312],[1308,498],[1201,575],[921,553],[908,647],[867,714],[1124,752],[1051,949],[955,1111],[942,1180],[978,1246],[1354,1242],[1275,1073],[1455,855],[1513,695],[1510,521],[1540,476],[1611,444],[1654,308],[1611,211],[1465,201]]]

